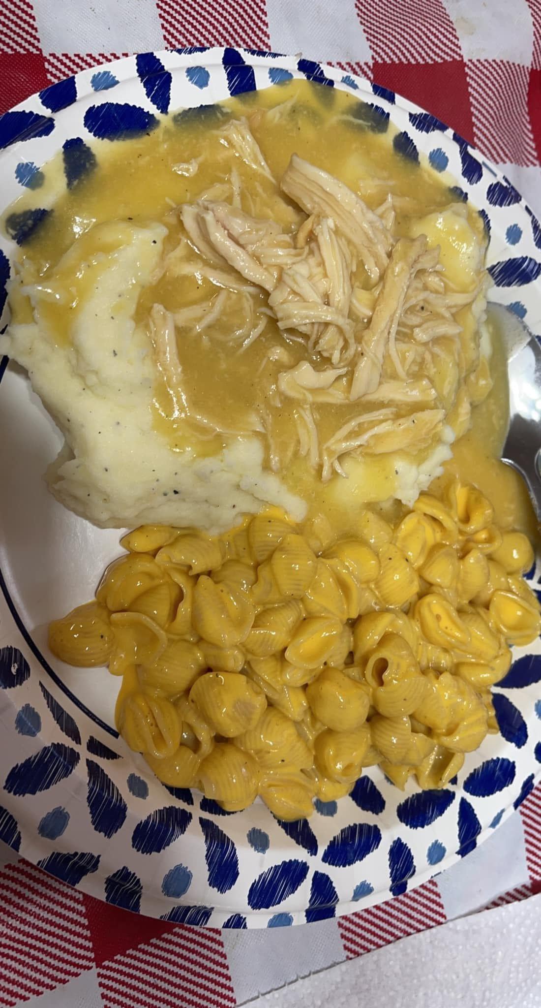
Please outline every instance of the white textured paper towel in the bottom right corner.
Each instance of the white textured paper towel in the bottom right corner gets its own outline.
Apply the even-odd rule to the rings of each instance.
[[[541,895],[312,974],[250,1008],[540,1008]]]

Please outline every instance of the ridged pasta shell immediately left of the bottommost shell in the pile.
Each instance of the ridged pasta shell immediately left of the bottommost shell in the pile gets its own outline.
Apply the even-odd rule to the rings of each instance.
[[[229,811],[252,804],[259,786],[259,773],[249,753],[227,742],[219,742],[199,767],[199,786]]]

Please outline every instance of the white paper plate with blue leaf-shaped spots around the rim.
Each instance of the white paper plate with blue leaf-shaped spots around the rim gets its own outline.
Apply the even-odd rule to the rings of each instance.
[[[46,210],[43,165],[95,138],[113,143],[179,107],[209,105],[291,77],[375,106],[395,149],[450,172],[491,236],[493,299],[541,331],[541,229],[513,185],[426,112],[330,67],[268,52],[191,48],[84,71],[0,118],[1,209],[23,186]],[[99,157],[99,147],[98,147]],[[74,161],[64,153],[66,167]],[[88,160],[88,159],[87,159]],[[79,160],[84,165],[85,158]],[[46,168],[45,168],[46,170]],[[66,177],[70,171],[66,171]],[[33,216],[32,216],[33,215]],[[0,243],[2,288],[9,243]],[[2,295],[2,300],[5,297]],[[7,318],[2,319],[5,324]],[[502,730],[466,756],[442,791],[399,791],[373,768],[352,794],[315,802],[309,821],[281,823],[262,803],[225,813],[196,791],[168,789],[114,729],[105,670],[62,666],[46,647],[51,618],[87,601],[120,549],[65,511],[42,474],[60,437],[24,374],[0,384],[0,839],[52,875],[118,906],[226,927],[292,924],[352,912],[404,892],[479,845],[535,784],[541,762],[539,643],[518,649],[494,690]]]

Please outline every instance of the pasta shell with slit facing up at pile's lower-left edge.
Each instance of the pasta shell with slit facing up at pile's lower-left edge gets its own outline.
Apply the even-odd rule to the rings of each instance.
[[[130,749],[156,759],[171,756],[180,745],[178,715],[161,697],[129,694],[118,713],[118,729]]]

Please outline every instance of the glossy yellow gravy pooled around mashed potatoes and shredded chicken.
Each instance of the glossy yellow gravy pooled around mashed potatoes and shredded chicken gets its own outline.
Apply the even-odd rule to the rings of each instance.
[[[284,172],[292,153],[297,153],[315,165],[335,174],[354,191],[359,192],[373,209],[379,207],[389,192],[401,198],[395,230],[408,234],[412,217],[419,217],[449,206],[454,197],[449,194],[449,179],[443,179],[425,165],[418,165],[396,153],[391,140],[392,129],[385,129],[385,121],[378,113],[368,110],[360,115],[361,103],[344,92],[320,88],[307,82],[292,81],[274,86],[256,96],[232,99],[214,106],[206,115],[180,113],[167,118],[158,130],[140,139],[110,144],[96,144],[99,167],[72,190],[61,184],[61,164],[57,161],[45,172],[45,183],[40,190],[40,201],[52,202],[53,213],[24,247],[22,260],[31,260],[35,279],[46,286],[55,273],[51,299],[45,308],[46,321],[58,343],[69,338],[69,324],[73,313],[84,300],[85,291],[93,282],[93,268],[99,264],[100,253],[107,247],[96,245],[93,224],[108,221],[135,221],[145,224],[163,221],[168,229],[165,252],[172,253],[181,238],[181,227],[174,208],[179,204],[200,199],[230,200],[227,188],[232,160],[238,172],[243,193],[250,194],[254,216],[268,216],[278,221],[284,230],[290,230],[302,219],[298,209],[280,195],[275,182],[253,170],[240,158],[234,158],[224,145],[220,132],[221,122],[227,112],[237,118],[248,119],[250,129],[276,178]],[[226,110],[226,113],[223,111]],[[370,128],[369,128],[370,127]],[[196,164],[190,174],[190,165]],[[25,194],[17,210],[35,202],[35,196]],[[250,213],[250,206],[242,204]],[[402,208],[402,211],[400,210]],[[468,221],[480,232],[482,223],[475,211],[468,209]],[[76,271],[70,260],[58,272],[57,264],[62,255],[78,238],[79,256],[85,260],[85,269]],[[107,245],[107,242],[106,242]],[[369,286],[362,268],[356,281]],[[54,299],[58,291],[67,295],[61,302]],[[275,323],[269,320],[262,335],[242,352],[235,352],[232,369],[232,352],[228,336],[238,326],[243,308],[243,294],[232,295],[213,328],[213,339],[201,338],[193,327],[181,328],[178,352],[183,373],[186,375],[186,401],[189,406],[184,414],[174,415],[164,387],[156,388],[154,423],[178,452],[193,448],[193,416],[205,415],[218,427],[233,427],[248,431],[253,423],[254,403],[261,399],[263,378],[269,384],[283,368],[279,362],[269,361],[269,351],[277,342],[284,343]],[[172,268],[157,277],[154,284],[143,290],[137,309],[137,321],[142,322],[155,302],[168,310],[176,311],[186,305],[196,306],[217,297],[217,287],[199,273],[182,274]],[[266,303],[263,293],[252,295],[256,308]],[[119,310],[122,291],[119,291]],[[31,319],[29,304],[24,297],[12,298],[15,321]],[[294,341],[285,339],[290,360],[295,364],[304,356]],[[288,365],[288,366],[291,366]],[[515,526],[534,533],[535,522],[528,496],[522,481],[511,469],[498,461],[508,422],[502,403],[508,401],[505,361],[498,339],[494,342],[492,357],[494,388],[489,397],[474,409],[471,429],[453,446],[453,459],[445,465],[446,473],[458,474],[480,486],[494,502],[497,520],[504,527]],[[358,411],[358,406],[352,407]],[[336,481],[328,485],[314,482],[307,465],[292,458],[292,409],[285,406],[283,415],[275,416],[275,451],[283,463],[284,481],[289,489],[304,496],[309,510],[323,511],[340,527],[347,527],[352,516],[350,510],[355,495],[336,492]],[[325,424],[332,429],[332,411],[322,417],[321,431]],[[348,415],[341,413],[342,422]],[[335,422],[334,422],[335,428]],[[209,437],[197,446],[198,454],[216,454],[223,448],[220,434]],[[363,500],[381,501],[392,491],[394,470],[389,456],[375,457],[369,469],[370,491]]]

